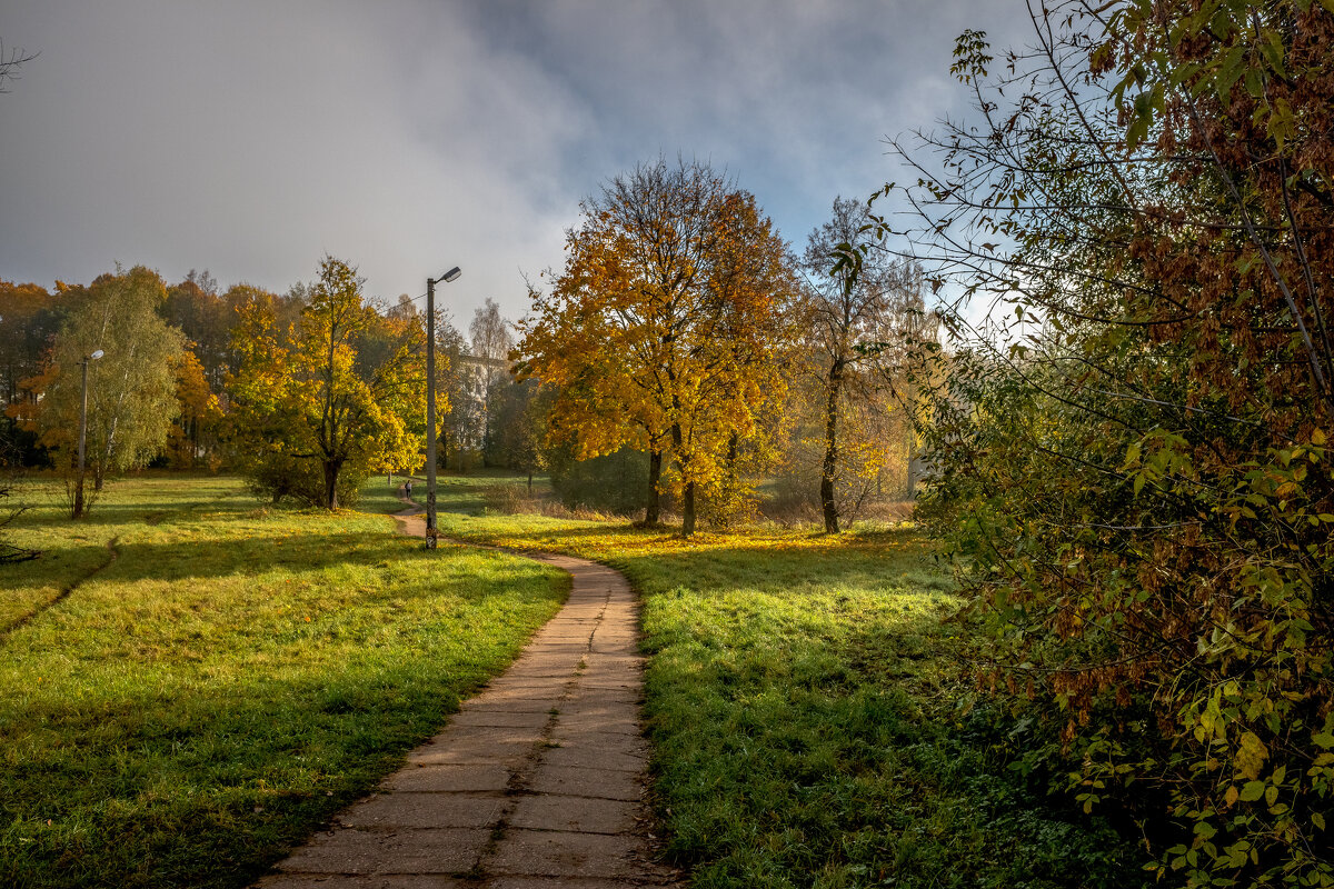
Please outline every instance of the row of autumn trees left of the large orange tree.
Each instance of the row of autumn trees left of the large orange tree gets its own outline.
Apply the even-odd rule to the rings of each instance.
[[[520,428],[532,387],[508,377],[496,304],[478,312],[472,343],[436,325],[444,461],[534,470],[536,441]],[[0,453],[57,470],[73,516],[141,466],[239,472],[263,497],[336,508],[372,472],[420,468],[424,343],[412,299],[368,299],[334,257],[281,295],[220,291],[193,271],[167,285],[144,267],[53,292],[0,281]]]

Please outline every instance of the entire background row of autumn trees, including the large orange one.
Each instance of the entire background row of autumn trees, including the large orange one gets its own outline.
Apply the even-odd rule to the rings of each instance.
[[[467,335],[436,319],[440,468],[548,470],[567,505],[675,509],[687,534],[754,514],[762,482],[831,532],[903,498],[903,356],[934,321],[911,263],[834,272],[866,225],[836,200],[798,256],[707,165],[614,177],[524,321],[490,299]],[[73,514],[139,466],[237,472],[259,496],[336,508],[371,473],[422,466],[426,328],[416,300],[368,299],[334,257],[281,295],[143,267],[53,292],[0,281],[0,441],[57,469]]]

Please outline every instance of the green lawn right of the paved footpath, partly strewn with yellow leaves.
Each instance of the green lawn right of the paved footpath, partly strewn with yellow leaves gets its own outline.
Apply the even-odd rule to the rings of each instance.
[[[1022,726],[963,714],[968,628],[912,529],[686,544],[488,514],[491,484],[443,478],[442,532],[594,558],[642,593],[659,812],[692,885],[1143,882],[1125,840],[1011,768]]]

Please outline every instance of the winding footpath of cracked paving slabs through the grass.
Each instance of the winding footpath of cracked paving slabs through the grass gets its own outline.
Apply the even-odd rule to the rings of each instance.
[[[414,510],[404,533],[422,536]],[[570,601],[407,766],[280,862],[263,889],[675,886],[654,862],[639,729],[643,657],[626,578],[570,572]]]

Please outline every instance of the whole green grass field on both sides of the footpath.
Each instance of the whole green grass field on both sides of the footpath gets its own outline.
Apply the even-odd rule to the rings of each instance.
[[[694,886],[1143,882],[996,752],[1022,725],[962,706],[970,626],[911,528],[687,544],[498,513],[522,484],[443,477],[440,528],[631,578],[656,806]],[[400,506],[383,477],[338,516],[225,478],[121,482],[79,524],[39,497],[11,537],[45,554],[0,568],[0,885],[245,885],[558,608],[532,562],[394,537]]]

